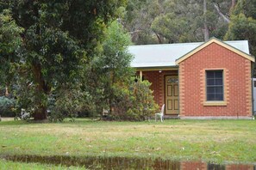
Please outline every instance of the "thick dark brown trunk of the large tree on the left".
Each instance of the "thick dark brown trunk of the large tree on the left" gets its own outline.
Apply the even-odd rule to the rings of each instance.
[[[33,74],[34,82],[36,84],[36,106],[37,108],[34,111],[34,120],[43,120],[47,119],[47,106],[44,103],[47,103],[45,96],[47,96],[50,88],[47,86],[47,83],[44,81],[41,74],[41,65],[33,64]]]

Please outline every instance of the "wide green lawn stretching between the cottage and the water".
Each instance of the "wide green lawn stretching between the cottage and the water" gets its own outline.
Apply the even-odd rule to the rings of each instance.
[[[161,157],[256,162],[256,121],[0,122],[0,155]]]

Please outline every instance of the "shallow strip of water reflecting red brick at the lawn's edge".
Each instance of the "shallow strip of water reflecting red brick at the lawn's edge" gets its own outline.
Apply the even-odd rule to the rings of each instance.
[[[89,169],[170,169],[170,170],[256,170],[253,164],[219,165],[203,161],[170,161],[162,159],[139,159],[126,157],[74,157],[40,155],[1,155],[4,160],[38,162],[43,164],[86,167]]]

